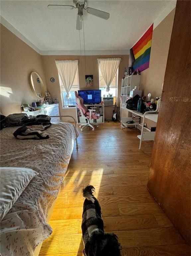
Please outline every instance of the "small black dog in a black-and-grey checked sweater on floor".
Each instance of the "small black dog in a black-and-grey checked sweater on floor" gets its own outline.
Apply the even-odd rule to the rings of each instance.
[[[88,185],[83,189],[82,237],[85,256],[121,256],[118,237],[104,233],[101,207],[94,197],[95,188]]]

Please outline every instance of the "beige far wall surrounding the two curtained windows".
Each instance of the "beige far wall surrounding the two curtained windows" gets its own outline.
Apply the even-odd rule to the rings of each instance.
[[[85,75],[93,75],[93,87],[91,89],[99,89],[99,68],[97,58],[122,58],[122,61],[119,65],[119,76],[118,76],[118,99],[120,99],[121,93],[121,79],[124,76],[124,68],[128,66],[129,63],[129,55],[92,55],[86,56],[86,72],[85,72],[85,58],[84,56],[55,56],[55,55],[45,55],[42,56],[47,90],[51,94],[52,97],[58,98],[59,106],[60,106],[60,114],[61,115],[72,115],[75,117],[75,109],[63,109],[61,104],[61,93],[60,86],[58,80],[58,71],[56,68],[55,60],[78,60],[78,73],[79,73],[79,85],[80,89],[87,89],[85,87]],[[55,82],[50,82],[50,78],[54,77]],[[111,119],[112,107],[105,107],[105,118]],[[69,119],[66,119],[69,120]]]

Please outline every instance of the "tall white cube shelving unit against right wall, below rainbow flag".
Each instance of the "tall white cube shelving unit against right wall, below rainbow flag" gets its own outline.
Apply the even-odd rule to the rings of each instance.
[[[131,75],[125,77],[121,81],[121,96],[123,96],[123,104],[126,103],[128,98],[130,97],[130,91],[132,91],[135,86],[137,86],[137,90],[140,87],[141,75]]]

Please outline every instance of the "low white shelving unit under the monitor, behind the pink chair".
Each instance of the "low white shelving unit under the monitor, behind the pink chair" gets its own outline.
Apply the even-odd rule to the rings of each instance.
[[[104,123],[104,104],[94,104],[94,105],[85,105],[88,109],[95,109],[95,112],[100,114],[100,118],[99,119],[91,119],[90,123],[99,123],[99,124],[103,124]],[[86,118],[82,117],[79,111],[78,106],[76,105],[76,120],[77,120],[77,124],[86,124]]]

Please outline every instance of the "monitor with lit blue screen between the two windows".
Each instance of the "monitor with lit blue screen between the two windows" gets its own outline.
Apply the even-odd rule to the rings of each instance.
[[[78,95],[84,100],[84,104],[101,103],[101,90],[78,90]]]

